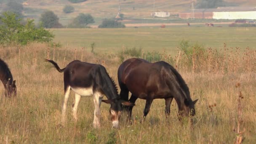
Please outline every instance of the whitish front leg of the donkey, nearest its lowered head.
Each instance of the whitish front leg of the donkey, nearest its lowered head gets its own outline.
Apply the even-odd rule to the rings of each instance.
[[[94,128],[99,128],[100,127],[100,117],[101,117],[101,100],[102,96],[99,93],[94,93],[93,94],[93,101],[94,101],[94,119],[93,119],[93,127]]]

